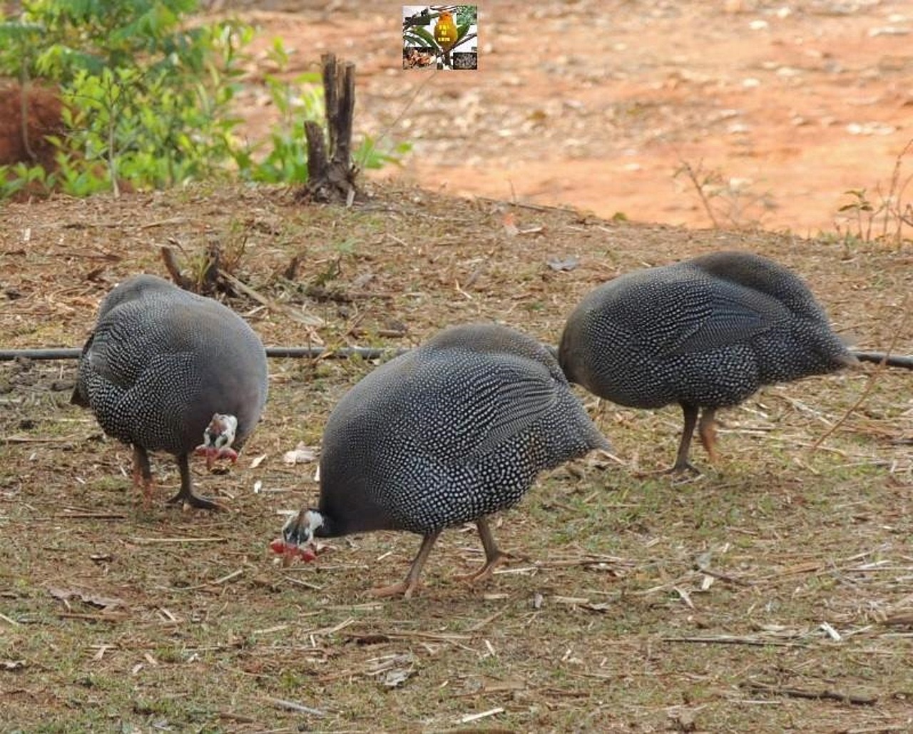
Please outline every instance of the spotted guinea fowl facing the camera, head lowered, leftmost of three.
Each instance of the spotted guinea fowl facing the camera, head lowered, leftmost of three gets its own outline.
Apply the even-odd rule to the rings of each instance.
[[[194,494],[190,454],[205,455],[207,467],[234,461],[266,400],[266,352],[247,322],[151,275],[125,280],[102,301],[72,397],[106,434],[133,446],[133,481],[147,501],[148,452],[165,451],[181,470],[169,501],[205,509],[216,505]]]

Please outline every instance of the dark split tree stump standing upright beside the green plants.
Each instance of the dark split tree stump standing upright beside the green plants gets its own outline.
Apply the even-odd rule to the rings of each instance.
[[[352,165],[352,122],[355,110],[355,65],[340,65],[335,54],[320,57],[329,150],[320,125],[304,123],[308,138],[308,183],[296,195],[299,201],[352,204],[359,194],[358,173]]]

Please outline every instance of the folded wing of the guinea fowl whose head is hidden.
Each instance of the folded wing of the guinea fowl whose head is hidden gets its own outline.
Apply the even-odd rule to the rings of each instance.
[[[667,356],[744,344],[790,319],[789,309],[779,300],[720,281],[715,281],[698,302],[694,318],[666,344]]]

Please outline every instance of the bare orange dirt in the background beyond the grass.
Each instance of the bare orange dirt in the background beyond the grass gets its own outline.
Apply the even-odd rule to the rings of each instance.
[[[247,10],[260,48],[286,39],[293,68],[354,61],[359,130],[414,142],[400,173],[450,194],[709,226],[688,163],[721,224],[810,236],[846,191],[887,195],[913,139],[905,0],[498,0],[479,6],[479,70],[437,73],[401,68],[399,5],[216,5]],[[259,134],[273,113],[248,100]]]

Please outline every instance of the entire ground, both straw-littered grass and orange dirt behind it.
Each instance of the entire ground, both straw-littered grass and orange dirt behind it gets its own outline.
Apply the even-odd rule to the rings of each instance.
[[[398,6],[279,5],[251,17],[299,39],[300,68],[323,50],[355,60],[360,130],[415,142],[402,177],[425,188],[375,183],[350,210],[214,184],[6,204],[0,345],[79,346],[114,283],[164,274],[165,245],[189,274],[217,244],[249,288],[218,297],[268,345],[331,348],[486,319],[554,343],[605,279],[739,247],[806,278],[859,349],[913,353],[913,245],[836,236],[828,218],[844,188],[887,178],[909,137],[909,38],[869,35],[909,26],[909,4],[581,0],[537,5],[530,29],[530,4],[488,3],[482,70],[420,90],[399,68]],[[244,101],[262,129],[262,94]],[[770,188],[763,224],[829,233],[609,218],[707,225],[672,177],[679,153]],[[519,200],[607,216],[449,195],[510,198],[511,182]],[[724,224],[741,201],[714,199]],[[283,456],[319,453],[332,406],[373,366],[271,360],[238,463],[194,465],[227,508],[207,514],[164,505],[168,456],[143,507],[129,448],[68,402],[73,361],[0,362],[0,730],[913,729],[908,371],[764,389],[721,414],[719,463],[698,450],[703,473],[685,480],[645,474],[671,463],[677,409],[581,391],[614,459],[548,472],[499,516],[516,557],[490,582],[456,578],[482,558],[475,530],[445,532],[405,601],[366,590],[404,576],[415,536],[334,540],[287,569],[267,549],[318,492],[313,464]]]

